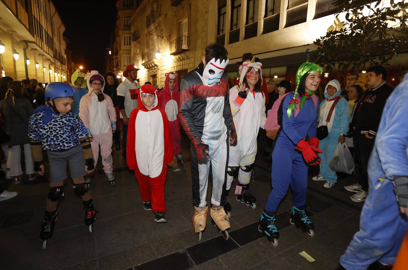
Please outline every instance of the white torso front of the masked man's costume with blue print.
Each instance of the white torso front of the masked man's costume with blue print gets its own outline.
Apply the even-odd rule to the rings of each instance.
[[[204,128],[201,140],[209,146],[209,156],[217,154],[220,145],[227,138],[227,127],[224,120],[225,97],[208,97],[204,117]]]

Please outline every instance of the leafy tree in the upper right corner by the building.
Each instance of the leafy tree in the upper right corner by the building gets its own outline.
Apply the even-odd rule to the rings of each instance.
[[[408,1],[335,0],[341,23],[313,42],[318,64],[341,77],[368,66],[387,64],[408,49]],[[343,71],[344,73],[339,73]]]

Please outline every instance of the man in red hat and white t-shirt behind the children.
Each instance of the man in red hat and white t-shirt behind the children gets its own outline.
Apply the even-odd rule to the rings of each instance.
[[[137,108],[137,95],[140,92],[140,85],[137,83],[137,70],[136,66],[128,65],[123,72],[123,77],[126,79],[120,83],[116,92],[118,94],[120,118],[122,119],[122,146],[123,146],[123,158],[126,160],[126,138],[127,129],[129,124],[130,113]]]

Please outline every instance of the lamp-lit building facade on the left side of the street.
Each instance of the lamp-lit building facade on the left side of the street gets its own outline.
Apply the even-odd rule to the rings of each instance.
[[[50,0],[0,0],[2,77],[64,81],[67,70],[65,26]],[[2,50],[0,50],[1,52]]]

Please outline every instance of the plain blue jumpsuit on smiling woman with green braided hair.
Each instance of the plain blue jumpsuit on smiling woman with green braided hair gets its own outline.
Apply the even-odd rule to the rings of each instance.
[[[276,212],[280,201],[288,192],[289,184],[293,190],[293,205],[299,207],[306,203],[308,167],[302,153],[295,150],[295,145],[306,138],[307,134],[309,138],[316,137],[317,108],[311,98],[306,99],[299,114],[289,119],[287,108],[293,95],[289,93],[282,103],[282,130],[272,153],[273,190],[265,206],[268,212]]]

